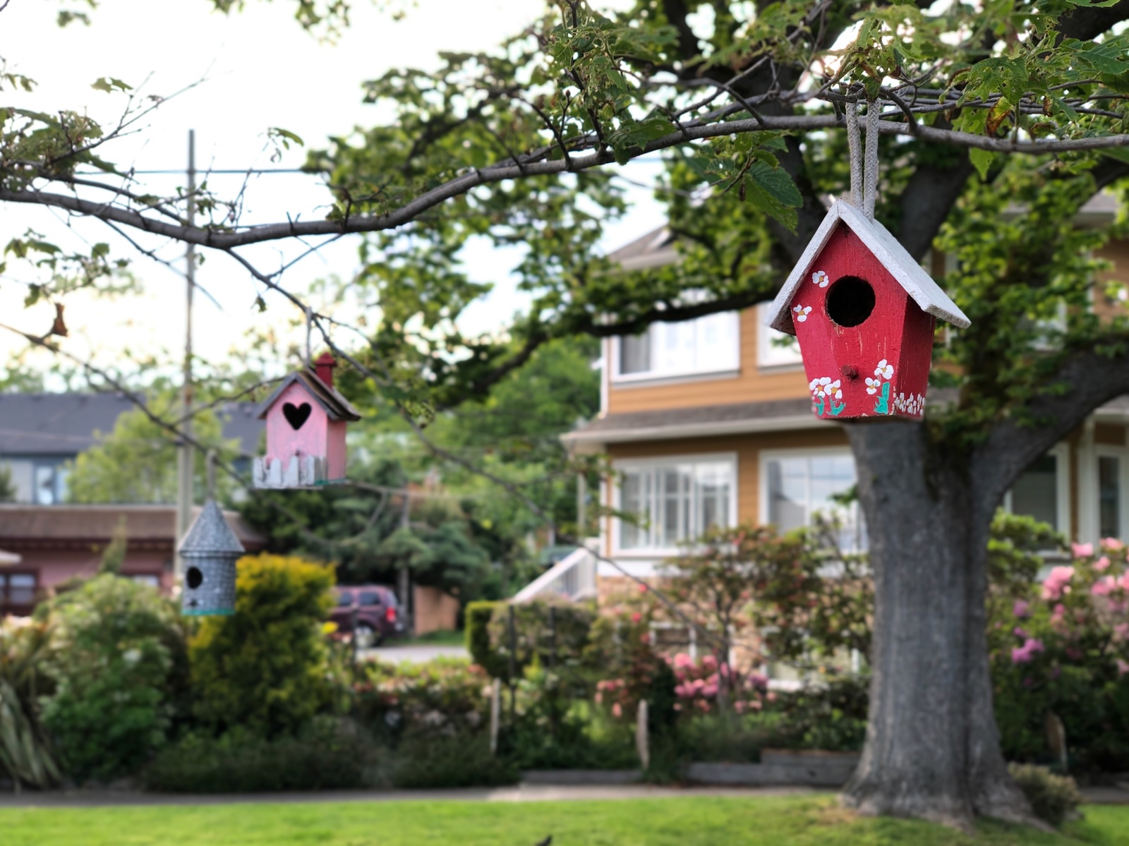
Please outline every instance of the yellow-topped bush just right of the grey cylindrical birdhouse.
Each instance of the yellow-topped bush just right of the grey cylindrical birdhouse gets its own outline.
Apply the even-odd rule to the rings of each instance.
[[[292,734],[333,700],[323,621],[333,570],[298,558],[239,560],[235,614],[189,643],[196,717],[213,730]]]

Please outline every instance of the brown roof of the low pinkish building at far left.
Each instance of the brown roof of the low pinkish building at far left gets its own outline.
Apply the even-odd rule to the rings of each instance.
[[[200,507],[192,509],[195,520]],[[173,549],[174,505],[11,505],[0,504],[0,539],[10,551],[82,548],[107,543],[119,522],[133,548]],[[266,539],[236,512],[224,512],[227,524],[248,551],[262,549]]]

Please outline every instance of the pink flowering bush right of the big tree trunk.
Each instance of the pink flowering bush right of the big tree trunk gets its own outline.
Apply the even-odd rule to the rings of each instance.
[[[1120,540],[1074,543],[1071,560],[1017,581],[991,607],[989,645],[1005,752],[1047,755],[1047,714],[1064,723],[1071,766],[1129,757],[1129,561]],[[1019,594],[1019,595],[1016,595]],[[1120,764],[1119,764],[1120,762]]]

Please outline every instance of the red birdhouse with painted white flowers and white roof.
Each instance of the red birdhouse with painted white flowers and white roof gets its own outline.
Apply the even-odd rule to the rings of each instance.
[[[937,317],[969,325],[882,224],[837,200],[767,322],[796,335],[816,417],[918,419]]]

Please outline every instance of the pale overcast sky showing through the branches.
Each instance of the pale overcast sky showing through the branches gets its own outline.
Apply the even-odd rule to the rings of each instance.
[[[291,150],[279,163],[270,162],[264,149],[269,127],[286,128],[318,147],[329,136],[345,133],[355,125],[371,125],[377,121],[376,110],[361,104],[361,81],[394,67],[434,67],[439,51],[488,49],[519,30],[543,8],[540,0],[419,0],[399,3],[405,15],[394,21],[358,0],[353,26],[336,44],[325,44],[291,19],[290,0],[250,0],[244,12],[230,17],[209,11],[208,0],[102,0],[93,12],[93,26],[59,29],[54,17],[61,6],[54,0],[11,0],[0,14],[0,56],[8,70],[38,82],[34,96],[3,91],[0,96],[6,105],[87,110],[106,125],[120,114],[123,101],[93,90],[90,84],[98,77],[116,77],[133,86],[143,82],[143,94],[163,96],[205,79],[163,105],[139,132],[107,150],[111,160],[139,171],[183,168],[190,128],[196,131],[199,168],[298,166],[304,159],[301,150]],[[649,183],[656,168],[655,163],[640,163],[631,166],[629,175]],[[178,174],[141,178],[161,193],[183,182]],[[220,193],[234,193],[240,180],[216,175],[210,185]],[[663,221],[660,208],[647,191],[632,189],[631,197],[634,210],[610,230],[609,248]],[[315,177],[262,175],[248,187],[244,221],[278,220],[286,212],[321,216],[324,210],[320,206],[326,199]],[[64,247],[111,242],[115,254],[133,260],[146,287],[142,297],[117,302],[73,298],[67,313],[71,330],[67,349],[80,356],[93,351],[94,359],[106,365],[125,348],[145,355],[183,343],[184,282],[180,277],[131,253],[100,224],[69,224],[61,213],[45,209],[0,208],[3,243],[29,227]],[[352,239],[339,242],[306,259],[288,272],[288,285],[300,289],[331,273],[348,277],[356,265],[356,244]],[[182,252],[180,246],[166,246],[160,254],[175,260]],[[299,245],[275,244],[248,251],[247,256],[263,267],[277,267],[299,252]],[[474,306],[461,325],[464,331],[504,325],[522,307],[508,278],[515,255],[485,244],[469,253],[472,277],[496,282],[497,289],[485,303]],[[16,267],[9,273],[0,279],[0,322],[45,331],[51,323],[47,311],[23,306],[26,288],[20,282],[28,280],[27,274]],[[196,297],[195,341],[207,358],[224,358],[248,330],[281,328],[292,316],[292,308],[278,297],[270,298],[270,311],[257,314],[252,308],[256,295],[252,281],[226,256],[209,256],[198,281],[220,306]],[[0,333],[0,361],[19,346],[10,334]]]

